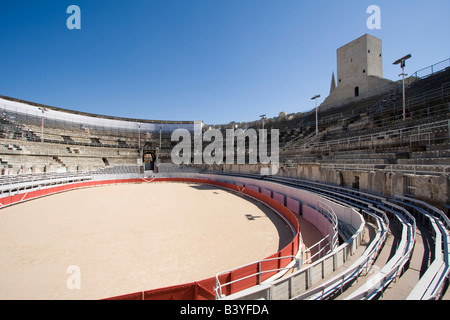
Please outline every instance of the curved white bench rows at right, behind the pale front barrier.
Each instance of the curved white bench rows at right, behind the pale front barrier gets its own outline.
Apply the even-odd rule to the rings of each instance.
[[[218,173],[230,174],[230,173]],[[234,174],[232,175],[240,175]],[[396,197],[387,198],[379,195],[366,193],[360,190],[348,189],[339,186],[332,186],[323,183],[304,181],[288,177],[270,177],[244,174],[248,178],[264,179],[280,184],[287,184],[296,188],[306,189],[324,197],[330,197],[335,201],[346,203],[358,208],[366,219],[372,219],[377,225],[377,235],[361,255],[357,262],[347,268],[319,287],[312,288],[308,292],[290,299],[326,299],[336,297],[344,292],[346,286],[358,278],[362,272],[362,267],[367,269],[375,262],[376,254],[385,244],[388,236],[388,228],[396,227],[399,230],[394,241],[394,248],[384,248],[391,250],[388,261],[379,267],[379,272],[368,279],[362,285],[358,283],[358,288],[345,299],[375,299],[383,296],[386,288],[395,288],[391,284],[408,270],[410,259],[416,243],[417,225],[416,218],[425,219],[429,222],[429,230],[435,238],[434,256],[435,259],[424,273],[419,282],[408,296],[408,299],[439,299],[445,288],[449,277],[449,219],[445,214],[430,206],[427,203],[408,198]],[[392,233],[392,232],[391,232]],[[376,252],[376,254],[374,254]],[[370,258],[369,258],[370,257]],[[281,280],[280,280],[281,281]]]

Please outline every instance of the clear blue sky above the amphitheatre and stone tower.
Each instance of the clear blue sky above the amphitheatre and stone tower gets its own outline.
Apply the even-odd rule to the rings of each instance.
[[[69,30],[69,5],[81,30]],[[368,6],[381,8],[369,30]],[[311,110],[336,49],[383,40],[384,76],[450,58],[450,1],[1,0],[0,94],[67,109],[208,124]],[[320,101],[320,102],[321,102]]]

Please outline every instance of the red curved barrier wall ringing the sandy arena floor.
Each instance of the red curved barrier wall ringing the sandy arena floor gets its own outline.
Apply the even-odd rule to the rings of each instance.
[[[45,189],[31,190],[29,192],[22,192],[14,195],[7,195],[0,198],[0,208],[5,206],[14,205],[23,201],[29,201],[44,196],[53,195],[59,192],[75,190],[79,188],[88,188],[95,186],[105,186],[114,184],[128,184],[128,183],[156,183],[156,182],[185,182],[185,183],[198,183],[209,184],[217,187],[225,188],[240,194],[244,194],[255,198],[278,213],[282,214],[293,226],[296,234],[291,243],[289,243],[281,251],[267,257],[266,259],[278,258],[276,260],[263,261],[262,263],[253,263],[241,268],[234,269],[228,273],[219,276],[221,284],[228,283],[234,280],[242,279],[231,285],[225,286],[222,289],[223,294],[231,295],[233,293],[248,289],[270,277],[274,276],[277,272],[271,271],[262,273],[260,276],[258,272],[270,271],[275,269],[281,269],[286,267],[292,262],[292,256],[296,256],[298,251],[301,250],[301,236],[300,226],[298,219],[291,210],[271,197],[260,193],[251,188],[243,188],[238,185],[219,182],[214,180],[194,179],[194,178],[155,178],[155,179],[118,179],[118,180],[104,180],[104,181],[82,181],[64,185],[58,185],[54,187],[48,187]],[[283,258],[285,257],[285,258]],[[264,260],[266,260],[264,259]],[[251,276],[253,275],[253,276]],[[144,292],[130,293],[122,296],[107,298],[106,300],[213,300],[215,299],[214,287],[216,286],[216,277],[196,281],[188,284],[181,284],[177,286],[149,290]]]

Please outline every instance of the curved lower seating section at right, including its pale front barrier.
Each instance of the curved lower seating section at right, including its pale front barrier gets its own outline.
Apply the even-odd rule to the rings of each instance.
[[[260,176],[251,174],[213,173],[261,180]],[[353,256],[347,253],[342,267],[336,267],[340,258],[333,252],[279,280],[228,299],[429,300],[448,297],[445,290],[450,273],[450,220],[442,211],[405,196],[387,198],[288,177],[262,179],[306,189],[357,208],[363,213],[366,225],[374,230],[365,229],[371,235],[366,235],[363,250]],[[374,250],[375,247],[379,249]],[[305,278],[308,279],[306,288]]]

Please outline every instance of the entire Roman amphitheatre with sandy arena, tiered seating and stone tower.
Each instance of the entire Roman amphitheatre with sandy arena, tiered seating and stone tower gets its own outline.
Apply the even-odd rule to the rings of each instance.
[[[403,90],[381,40],[337,54],[320,108],[246,123],[1,96],[0,298],[448,300],[450,60]],[[277,164],[171,161],[176,129],[263,127]]]

